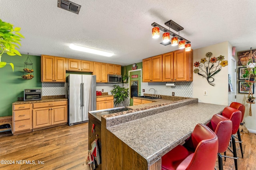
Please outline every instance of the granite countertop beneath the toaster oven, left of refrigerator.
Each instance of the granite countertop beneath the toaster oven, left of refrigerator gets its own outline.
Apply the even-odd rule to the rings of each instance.
[[[21,98],[20,98],[21,99]],[[65,98],[65,95],[59,96],[42,96],[42,100],[31,100],[31,101],[17,101],[12,104],[33,104],[33,103],[42,103],[42,102],[58,102],[68,100]]]

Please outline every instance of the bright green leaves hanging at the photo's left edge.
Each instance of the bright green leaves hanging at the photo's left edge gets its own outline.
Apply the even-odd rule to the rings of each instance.
[[[0,68],[9,64],[12,67],[12,72],[14,71],[14,65],[12,63],[6,63],[1,61],[1,57],[4,53],[10,56],[20,55],[20,52],[15,48],[20,48],[21,46],[20,39],[24,36],[19,33],[20,27],[13,28],[13,25],[7,22],[4,22],[0,19]]]

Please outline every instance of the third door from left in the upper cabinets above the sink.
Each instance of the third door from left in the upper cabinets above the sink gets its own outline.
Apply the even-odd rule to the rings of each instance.
[[[174,81],[173,78],[173,52],[166,53],[162,56],[163,82]]]

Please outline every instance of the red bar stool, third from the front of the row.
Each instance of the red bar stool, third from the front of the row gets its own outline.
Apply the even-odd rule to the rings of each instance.
[[[233,152],[233,156],[234,157],[229,157],[226,156],[226,152],[224,152],[224,155],[226,157],[229,158],[233,158],[234,162],[235,162],[235,168],[237,170],[237,155],[236,155],[236,141],[235,141],[235,137],[234,134],[236,134],[236,132],[238,131],[239,125],[240,125],[240,121],[241,121],[241,116],[242,113],[241,111],[239,111],[238,109],[234,109],[232,107],[225,107],[224,110],[222,111],[222,115],[228,119],[230,119],[232,121],[232,135],[231,135],[231,141],[232,141],[232,149],[233,151],[228,148],[231,152]]]

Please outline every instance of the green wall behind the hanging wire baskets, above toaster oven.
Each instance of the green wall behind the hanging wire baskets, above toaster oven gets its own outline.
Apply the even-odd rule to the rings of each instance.
[[[29,55],[33,63],[34,78],[31,80],[22,79],[24,62],[28,55],[9,56],[2,55],[1,61],[14,64],[14,72],[12,67],[6,65],[0,68],[0,117],[12,115],[12,103],[16,102],[18,97],[23,97],[24,89],[26,88],[42,88],[41,83],[41,57]],[[32,66],[28,66],[29,69]]]

